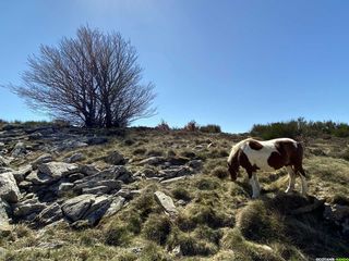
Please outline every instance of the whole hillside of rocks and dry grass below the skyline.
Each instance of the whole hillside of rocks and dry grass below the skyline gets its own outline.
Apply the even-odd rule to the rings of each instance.
[[[308,138],[309,198],[286,171],[230,181],[246,135],[7,124],[3,260],[313,260],[349,257],[349,138]]]

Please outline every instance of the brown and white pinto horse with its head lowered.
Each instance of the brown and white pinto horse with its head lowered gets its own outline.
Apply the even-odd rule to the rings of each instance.
[[[252,186],[252,198],[257,198],[261,192],[257,170],[276,171],[286,166],[289,175],[289,184],[285,192],[294,190],[296,176],[299,174],[302,182],[301,194],[308,192],[305,172],[302,166],[303,146],[290,138],[277,138],[270,140],[243,139],[236,144],[228,157],[228,171],[232,181],[236,181],[239,169],[245,169],[249,183]]]

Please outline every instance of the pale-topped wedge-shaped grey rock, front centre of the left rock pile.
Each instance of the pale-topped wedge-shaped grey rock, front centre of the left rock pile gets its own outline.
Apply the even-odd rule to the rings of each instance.
[[[93,202],[95,202],[95,195],[81,195],[64,201],[62,212],[68,220],[75,222],[84,216]]]

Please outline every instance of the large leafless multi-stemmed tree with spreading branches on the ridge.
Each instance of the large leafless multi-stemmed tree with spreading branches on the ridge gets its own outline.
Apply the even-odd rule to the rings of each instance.
[[[80,27],[76,38],[41,46],[28,58],[23,86],[12,87],[34,109],[86,127],[124,127],[152,116],[154,85],[120,34]]]

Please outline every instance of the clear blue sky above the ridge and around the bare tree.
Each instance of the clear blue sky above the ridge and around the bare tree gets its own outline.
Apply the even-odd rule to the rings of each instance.
[[[20,85],[40,44],[88,24],[130,39],[156,85],[158,114],[135,125],[349,122],[348,11],[345,0],[1,1],[0,84]],[[0,119],[45,115],[0,88]]]

